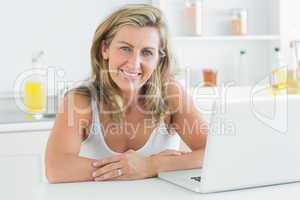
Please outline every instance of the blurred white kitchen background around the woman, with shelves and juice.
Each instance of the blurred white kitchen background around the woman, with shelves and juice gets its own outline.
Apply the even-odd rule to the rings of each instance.
[[[64,91],[90,75],[95,28],[130,3],[164,12],[177,58],[173,72],[187,90],[264,86],[277,69],[299,69],[299,42],[291,45],[300,39],[294,0],[2,1],[0,132],[49,131]]]

